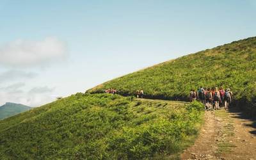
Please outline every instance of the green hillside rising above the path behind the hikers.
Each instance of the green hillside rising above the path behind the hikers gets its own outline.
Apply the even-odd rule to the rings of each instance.
[[[256,37],[252,37],[166,61],[100,84],[88,92],[116,88],[122,95],[134,95],[136,90],[143,89],[148,98],[188,100],[192,88],[223,86],[231,88],[234,100],[241,102],[243,108],[255,109],[255,79]]]

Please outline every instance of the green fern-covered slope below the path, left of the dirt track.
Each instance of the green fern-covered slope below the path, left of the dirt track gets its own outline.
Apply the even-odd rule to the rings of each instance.
[[[1,120],[0,157],[142,159],[173,154],[195,138],[202,113],[198,103],[77,93]]]

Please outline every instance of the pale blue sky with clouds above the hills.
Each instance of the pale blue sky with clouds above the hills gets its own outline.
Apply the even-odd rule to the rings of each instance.
[[[0,106],[41,106],[256,36],[256,1],[0,0]]]

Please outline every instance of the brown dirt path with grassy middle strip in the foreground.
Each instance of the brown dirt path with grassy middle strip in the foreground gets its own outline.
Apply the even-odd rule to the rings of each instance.
[[[195,144],[181,159],[256,160],[256,122],[241,113],[205,111],[205,124]]]

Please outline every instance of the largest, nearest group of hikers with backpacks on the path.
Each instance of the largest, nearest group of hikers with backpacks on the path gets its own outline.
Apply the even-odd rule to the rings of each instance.
[[[229,88],[224,90],[222,86],[220,87],[220,90],[218,87],[203,88],[200,86],[197,92],[191,90],[189,97],[191,101],[198,100],[202,102],[205,105],[205,109],[209,111],[211,107],[212,109],[220,109],[223,107],[228,109],[232,100],[232,95],[233,94]]]

